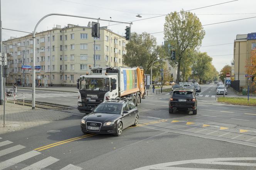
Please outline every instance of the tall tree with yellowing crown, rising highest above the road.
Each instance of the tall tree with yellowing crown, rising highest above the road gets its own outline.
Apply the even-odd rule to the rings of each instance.
[[[176,52],[176,83],[179,83],[182,63],[189,59],[185,57],[184,53],[200,46],[204,35],[205,31],[199,18],[191,12],[182,10],[179,13],[170,13],[165,17],[164,39],[173,46]],[[187,56],[189,57],[189,55]]]

